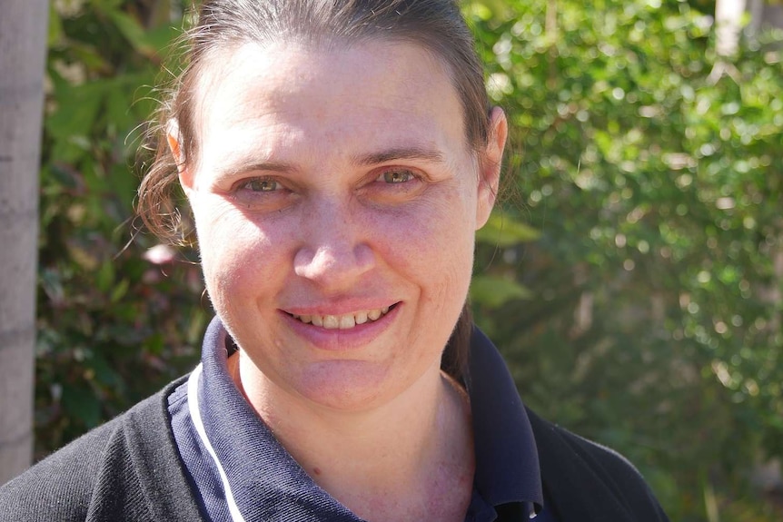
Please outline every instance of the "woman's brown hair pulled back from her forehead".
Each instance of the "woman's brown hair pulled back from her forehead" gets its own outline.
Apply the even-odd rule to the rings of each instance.
[[[196,24],[183,34],[184,69],[150,132],[154,157],[139,187],[136,209],[146,227],[165,241],[193,244],[192,227],[181,213],[185,205],[166,125],[177,122],[181,159],[190,163],[198,154],[196,86],[213,54],[244,43],[351,44],[373,38],[420,44],[448,65],[462,103],[467,143],[481,151],[490,138],[491,106],[481,60],[455,0],[205,0]],[[458,380],[465,375],[471,330],[466,303],[441,362]]]

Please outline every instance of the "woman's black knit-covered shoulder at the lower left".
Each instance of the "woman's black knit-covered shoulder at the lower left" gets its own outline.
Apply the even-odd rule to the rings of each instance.
[[[124,519],[114,514],[127,513],[128,506],[136,512],[130,519],[145,519],[143,511],[150,519],[142,482],[155,476],[150,468],[164,473],[179,468],[165,408],[171,389],[94,428],[0,487],[0,522]]]

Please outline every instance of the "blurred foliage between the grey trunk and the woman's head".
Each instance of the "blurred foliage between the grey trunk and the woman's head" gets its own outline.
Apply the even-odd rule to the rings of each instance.
[[[151,86],[176,34],[175,7],[52,3],[41,170],[38,455],[182,374],[201,346],[209,311],[195,256],[156,247],[154,238],[136,233],[133,219],[137,126],[154,108]]]

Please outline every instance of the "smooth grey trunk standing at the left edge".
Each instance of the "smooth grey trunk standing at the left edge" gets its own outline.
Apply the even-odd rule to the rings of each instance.
[[[48,2],[0,15],[0,484],[33,453],[38,167]]]

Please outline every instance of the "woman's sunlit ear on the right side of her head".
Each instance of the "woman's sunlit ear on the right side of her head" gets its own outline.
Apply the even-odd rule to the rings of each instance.
[[[480,229],[490,219],[492,207],[498,197],[501,184],[501,163],[509,124],[506,114],[500,107],[493,107],[490,121],[490,136],[487,148],[481,153],[479,161],[479,199],[476,206],[476,229]]]

